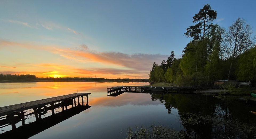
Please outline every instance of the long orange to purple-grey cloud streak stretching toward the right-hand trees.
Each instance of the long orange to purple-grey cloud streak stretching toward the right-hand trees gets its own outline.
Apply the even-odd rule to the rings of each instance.
[[[55,51],[53,52],[67,59],[99,62],[104,64],[115,64],[130,69],[144,71],[149,71],[154,62],[161,62],[163,59],[168,58],[167,55],[161,54],[136,53],[129,55],[121,52],[95,52],[90,51],[89,49],[80,51],[72,49],[55,48]]]

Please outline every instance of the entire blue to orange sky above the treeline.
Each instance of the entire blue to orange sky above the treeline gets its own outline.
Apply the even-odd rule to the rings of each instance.
[[[0,73],[37,77],[149,78],[175,57],[205,4],[214,24],[244,18],[256,32],[256,1],[0,1]]]

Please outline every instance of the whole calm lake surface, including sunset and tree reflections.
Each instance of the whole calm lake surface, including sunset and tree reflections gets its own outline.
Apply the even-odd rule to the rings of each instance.
[[[214,123],[201,126],[182,123],[186,113],[219,117],[255,124],[255,106],[238,101],[225,101],[213,96],[193,94],[123,93],[107,97],[108,87],[142,86],[148,82],[33,82],[0,83],[0,107],[33,100],[90,92],[91,108],[54,125],[31,138],[125,138],[128,128],[163,125],[168,128],[193,131],[198,138],[219,137],[220,131],[228,136],[245,137],[227,128],[219,129]],[[32,120],[31,120],[32,121]],[[21,123],[16,124],[18,127]],[[10,130],[11,127],[1,128]],[[3,133],[3,131],[0,131]],[[218,135],[219,134],[219,135]],[[1,136],[1,135],[0,135]],[[250,135],[251,136],[251,135]],[[249,136],[249,137],[250,137]]]

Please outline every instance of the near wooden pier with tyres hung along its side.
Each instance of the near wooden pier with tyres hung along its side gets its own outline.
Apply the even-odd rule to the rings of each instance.
[[[45,115],[48,111],[51,112],[51,115],[55,115],[56,109],[61,107],[62,111],[66,111],[68,109],[67,106],[69,105],[72,105],[72,108],[79,105],[88,106],[88,95],[90,94],[91,93],[73,93],[0,107],[0,130],[8,125],[11,125],[12,129],[15,129],[15,124],[20,121],[22,122],[22,125],[25,125],[25,120],[28,119],[26,117],[29,116],[34,116],[36,121],[38,121],[41,120],[42,115]],[[86,100],[84,101],[84,99]]]

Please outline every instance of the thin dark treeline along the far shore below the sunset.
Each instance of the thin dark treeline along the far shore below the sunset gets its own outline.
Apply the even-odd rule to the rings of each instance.
[[[0,81],[149,81],[149,79],[105,79],[105,78],[91,78],[91,77],[36,77],[35,75],[11,75],[0,74]]]

